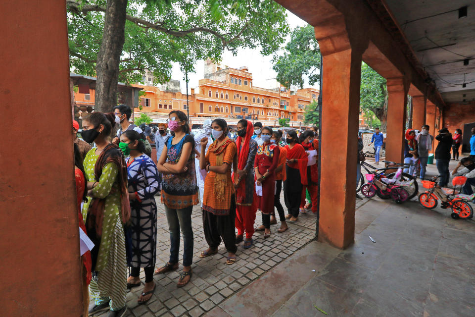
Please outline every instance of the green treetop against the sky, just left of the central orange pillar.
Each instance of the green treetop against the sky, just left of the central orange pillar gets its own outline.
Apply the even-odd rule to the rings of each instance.
[[[274,56],[273,69],[277,72],[277,80],[289,88],[290,85],[303,88],[302,75],[308,75],[309,84],[320,80],[320,49],[315,39],[313,26],[296,27],[290,34],[282,56]]]

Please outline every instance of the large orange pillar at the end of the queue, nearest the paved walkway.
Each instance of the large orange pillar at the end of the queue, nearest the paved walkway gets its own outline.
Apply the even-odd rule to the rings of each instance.
[[[319,241],[337,248],[354,242],[361,53],[323,53],[322,158]],[[335,133],[337,127],[338,133]]]

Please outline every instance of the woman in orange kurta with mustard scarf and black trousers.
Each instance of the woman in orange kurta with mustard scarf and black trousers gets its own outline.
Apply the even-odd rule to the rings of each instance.
[[[200,258],[218,253],[221,240],[228,250],[226,264],[236,262],[236,195],[231,179],[231,164],[238,170],[236,143],[225,134],[228,124],[223,119],[211,123],[215,141],[206,155],[199,157],[199,166],[208,172],[204,180],[203,229],[209,248],[201,252]],[[201,153],[204,153],[207,138],[201,139]]]

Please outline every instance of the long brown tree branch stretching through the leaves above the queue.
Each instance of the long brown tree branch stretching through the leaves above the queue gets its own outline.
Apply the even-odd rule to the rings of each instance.
[[[97,12],[97,11],[105,12],[105,7],[103,6],[100,6],[98,4],[84,4],[83,6],[81,6],[81,3],[79,3],[77,0],[66,0],[66,5],[72,13],[76,13],[76,14],[80,14],[81,12],[82,13]],[[163,32],[165,34],[176,36],[179,38],[184,37],[190,33],[197,33],[197,32],[209,33],[216,36],[217,38],[221,40],[221,42],[223,43],[223,48],[228,47],[228,45],[231,42],[236,41],[241,36],[242,32],[244,32],[244,30],[249,25],[248,22],[246,21],[244,27],[239,31],[239,33],[233,39],[227,40],[223,34],[220,34],[219,32],[212,30],[210,28],[204,27],[204,26],[194,27],[194,28],[180,31],[180,30],[167,29],[162,26],[162,23],[152,23],[142,18],[138,18],[129,14],[127,14],[126,19],[137,24],[138,26],[144,29],[153,29],[153,30]]]

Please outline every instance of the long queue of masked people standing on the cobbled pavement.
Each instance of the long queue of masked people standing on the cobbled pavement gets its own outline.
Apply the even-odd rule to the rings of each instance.
[[[81,257],[85,314],[108,310],[109,317],[124,316],[127,289],[142,284],[141,269],[145,279],[138,304],[149,301],[156,287],[153,274],[179,268],[180,235],[183,268],[177,287],[187,285],[192,277],[195,205],[201,204],[208,244],[199,257],[216,254],[223,241],[228,265],[236,263],[241,242],[244,249],[253,246],[255,231],[264,231],[265,239],[271,236],[275,209],[281,221],[278,233],[288,229],[287,219],[297,221],[305,212],[307,191],[315,211],[318,168],[308,164],[316,161],[314,131],[300,137],[287,131],[286,145],[281,146],[282,131],[241,119],[234,141],[224,119],[207,119],[192,135],[187,115],[174,110],[167,125],[159,124],[151,138],[151,130],[130,123],[130,116],[125,105],[116,106],[113,113],[91,113],[82,120],[83,140],[74,139],[79,222],[94,243]],[[119,129],[111,137],[116,124]],[[74,121],[75,136],[78,130]],[[156,164],[149,157],[150,142],[157,148]],[[280,202],[282,188],[287,215]],[[170,258],[156,268],[154,196],[159,192],[169,226]],[[254,228],[256,213],[263,225]],[[94,301],[90,306],[89,298]]]

